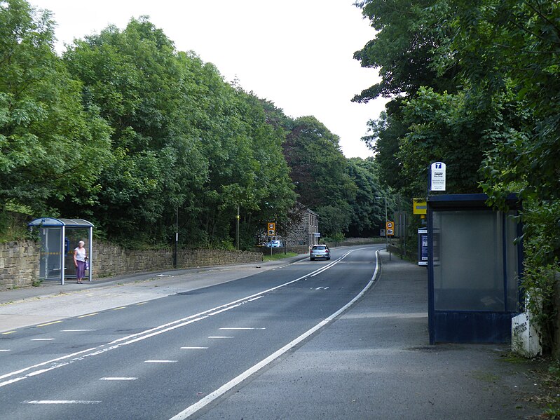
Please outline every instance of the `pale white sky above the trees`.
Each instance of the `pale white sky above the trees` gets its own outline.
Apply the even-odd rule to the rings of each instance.
[[[57,51],[108,25],[149,16],[179,51],[212,62],[226,81],[292,118],[313,115],[341,138],[347,158],[372,156],[361,137],[386,100],[351,102],[378,81],[355,51],[374,38],[354,0],[30,0],[53,12]]]

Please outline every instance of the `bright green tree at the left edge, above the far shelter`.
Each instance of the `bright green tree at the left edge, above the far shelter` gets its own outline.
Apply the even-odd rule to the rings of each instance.
[[[25,1],[0,3],[0,202],[40,214],[93,191],[109,154],[109,127],[82,106],[81,84],[53,50],[53,25]]]

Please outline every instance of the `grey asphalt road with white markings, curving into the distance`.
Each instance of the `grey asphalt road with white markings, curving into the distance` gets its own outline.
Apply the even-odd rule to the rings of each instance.
[[[380,248],[2,335],[1,418],[196,418],[328,327],[371,285]]]

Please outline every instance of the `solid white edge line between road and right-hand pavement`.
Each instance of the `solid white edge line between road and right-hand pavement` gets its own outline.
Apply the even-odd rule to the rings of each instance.
[[[198,412],[198,410],[200,410],[203,407],[205,407],[206,405],[210,404],[210,402],[213,402],[214,400],[219,398],[221,395],[224,395],[226,392],[231,390],[231,388],[233,388],[233,387],[237,386],[238,384],[240,384],[241,382],[245,381],[245,379],[250,377],[252,374],[255,374],[256,372],[259,372],[259,370],[261,370],[263,367],[265,367],[269,363],[273,362],[274,360],[279,358],[281,355],[283,355],[284,353],[286,353],[290,349],[297,346],[299,343],[301,343],[301,341],[303,341],[304,339],[309,337],[311,334],[313,334],[317,330],[320,330],[322,327],[324,327],[328,323],[332,322],[332,320],[334,320],[334,318],[336,318],[341,313],[343,313],[343,311],[346,311],[346,309],[348,309],[350,306],[352,306],[357,301],[357,299],[360,299],[360,297],[362,297],[364,295],[364,293],[367,292],[367,290],[369,290],[369,287],[371,287],[371,285],[374,284],[373,279],[376,277],[377,270],[378,270],[378,265],[379,265],[378,251],[376,251],[376,267],[375,267],[374,276],[372,277],[372,280],[369,280],[369,282],[364,287],[364,289],[362,289],[362,291],[359,294],[357,294],[357,296],[354,299],[352,299],[350,302],[348,302],[348,304],[346,304],[341,309],[339,309],[339,311],[336,311],[335,313],[333,313],[331,316],[329,316],[329,318],[327,318],[325,320],[322,320],[320,323],[315,325],[315,327],[312,327],[310,330],[304,332],[299,337],[297,337],[293,341],[289,342],[284,347],[280,348],[280,350],[275,351],[274,353],[269,355],[268,358],[266,358],[264,360],[261,360],[259,363],[257,363],[257,365],[254,365],[253,367],[250,367],[245,372],[238,375],[238,377],[235,377],[235,378],[231,379],[231,381],[229,381],[227,384],[224,384],[223,386],[218,388],[216,391],[206,395],[202,400],[199,400],[198,402],[191,405],[190,407],[187,407],[186,409],[184,409],[182,412],[180,412],[176,416],[172,416],[172,418],[170,420],[184,420],[187,417],[189,417],[189,416],[193,415],[194,413]]]

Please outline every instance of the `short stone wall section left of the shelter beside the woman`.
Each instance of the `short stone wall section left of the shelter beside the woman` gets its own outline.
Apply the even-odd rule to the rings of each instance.
[[[39,280],[39,247],[33,241],[0,243],[0,290]]]

